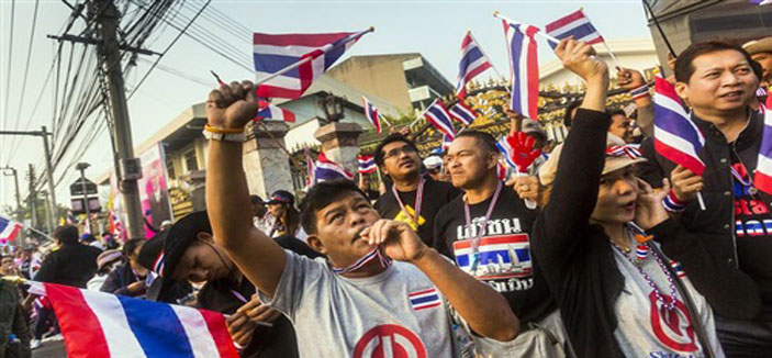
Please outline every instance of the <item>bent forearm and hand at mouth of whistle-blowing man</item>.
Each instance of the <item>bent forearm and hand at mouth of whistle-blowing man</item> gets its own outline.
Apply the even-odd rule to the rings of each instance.
[[[519,321],[504,297],[426,246],[407,224],[380,220],[362,236],[381,245],[387,256],[415,265],[479,335],[500,342],[517,336]]]

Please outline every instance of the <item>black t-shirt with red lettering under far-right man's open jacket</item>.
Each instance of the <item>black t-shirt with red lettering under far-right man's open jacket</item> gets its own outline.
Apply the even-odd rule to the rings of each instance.
[[[762,193],[750,184],[748,170],[734,154],[731,166],[741,179],[732,175],[737,260],[740,270],[759,284],[762,317],[772,320],[772,212]]]

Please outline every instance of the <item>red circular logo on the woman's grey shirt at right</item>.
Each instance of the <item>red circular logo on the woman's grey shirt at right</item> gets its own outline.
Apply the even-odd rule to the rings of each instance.
[[[662,298],[668,302],[671,300],[667,294],[662,294]],[[651,302],[651,328],[657,339],[676,351],[696,351],[698,348],[694,340],[694,326],[683,302],[676,300],[675,309],[668,311],[662,302],[657,300],[653,291],[649,293],[649,301]]]

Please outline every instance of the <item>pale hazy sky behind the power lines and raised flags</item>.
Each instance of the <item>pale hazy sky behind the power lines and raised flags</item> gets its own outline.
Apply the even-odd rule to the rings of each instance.
[[[149,3],[152,0],[132,0]],[[69,3],[80,1],[67,0]],[[181,13],[188,18],[204,4],[204,0],[187,0]],[[0,0],[0,128],[40,130],[52,126],[54,96],[51,81],[43,87],[52,67],[56,42],[46,35],[61,34],[70,9],[61,0],[40,0],[34,35],[31,38],[35,0]],[[11,11],[13,7],[13,11]],[[249,31],[265,33],[323,33],[354,32],[374,26],[374,33],[362,37],[347,54],[372,55],[394,53],[421,53],[450,82],[456,82],[461,38],[471,31],[480,46],[489,55],[494,67],[508,74],[501,21],[493,18],[494,11],[517,21],[544,26],[546,23],[583,7],[585,14],[606,40],[633,40],[650,37],[646,26],[642,3],[638,0],[511,0],[511,1],[260,1],[213,0],[195,21],[200,32],[197,36],[215,34],[219,40],[233,45],[238,58],[251,66],[251,37]],[[136,7],[133,7],[136,9]],[[221,15],[224,13],[226,16]],[[13,14],[13,21],[11,15]],[[13,26],[11,26],[13,23]],[[78,19],[74,30],[83,27]],[[249,31],[247,31],[249,30]],[[191,27],[189,31],[193,31]],[[77,34],[79,31],[75,31]],[[72,33],[72,31],[70,32]],[[179,31],[161,26],[150,37],[147,46],[163,52]],[[12,34],[12,36],[11,36]],[[30,47],[31,46],[31,47]],[[24,72],[27,52],[32,48],[26,85]],[[67,47],[66,47],[67,48]],[[156,56],[142,56],[137,66],[125,77],[126,87],[133,90],[148,70]],[[344,57],[345,59],[345,57]],[[539,63],[555,60],[549,47],[539,41]],[[63,61],[67,64],[68,61]],[[79,61],[76,59],[74,65]],[[9,66],[10,64],[10,66]],[[160,127],[174,120],[194,103],[205,100],[215,86],[209,74],[215,70],[224,80],[251,79],[253,72],[239,67],[204,45],[181,36],[161,58],[159,67],[171,69],[181,76],[156,68],[128,101],[132,137],[135,146],[150,137]],[[9,71],[10,67],[10,71]],[[493,76],[486,71],[481,78]],[[209,83],[209,85],[204,85]],[[8,91],[8,102],[5,93]],[[22,96],[24,88],[24,96]],[[40,100],[38,104],[36,102]],[[21,105],[20,105],[21,103]],[[8,113],[8,115],[5,115]],[[98,118],[103,121],[103,118]],[[0,167],[7,165],[19,170],[22,198],[26,197],[24,180],[29,164],[37,172],[43,169],[43,145],[40,137],[0,135]],[[136,154],[138,155],[138,154]],[[69,160],[65,160],[69,163]],[[112,166],[112,153],[107,132],[90,143],[80,161],[91,164],[87,177],[96,179]],[[67,164],[65,163],[65,164]],[[66,174],[56,188],[59,204],[69,204],[68,187],[79,174],[75,168],[56,168],[55,175]],[[15,205],[13,179],[0,177],[0,205]]]

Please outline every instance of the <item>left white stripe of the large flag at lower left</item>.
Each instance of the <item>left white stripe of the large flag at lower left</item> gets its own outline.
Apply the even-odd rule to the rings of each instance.
[[[102,292],[80,290],[83,300],[89,305],[104,332],[110,358],[146,357],[139,340],[134,336],[123,305],[118,297]]]

